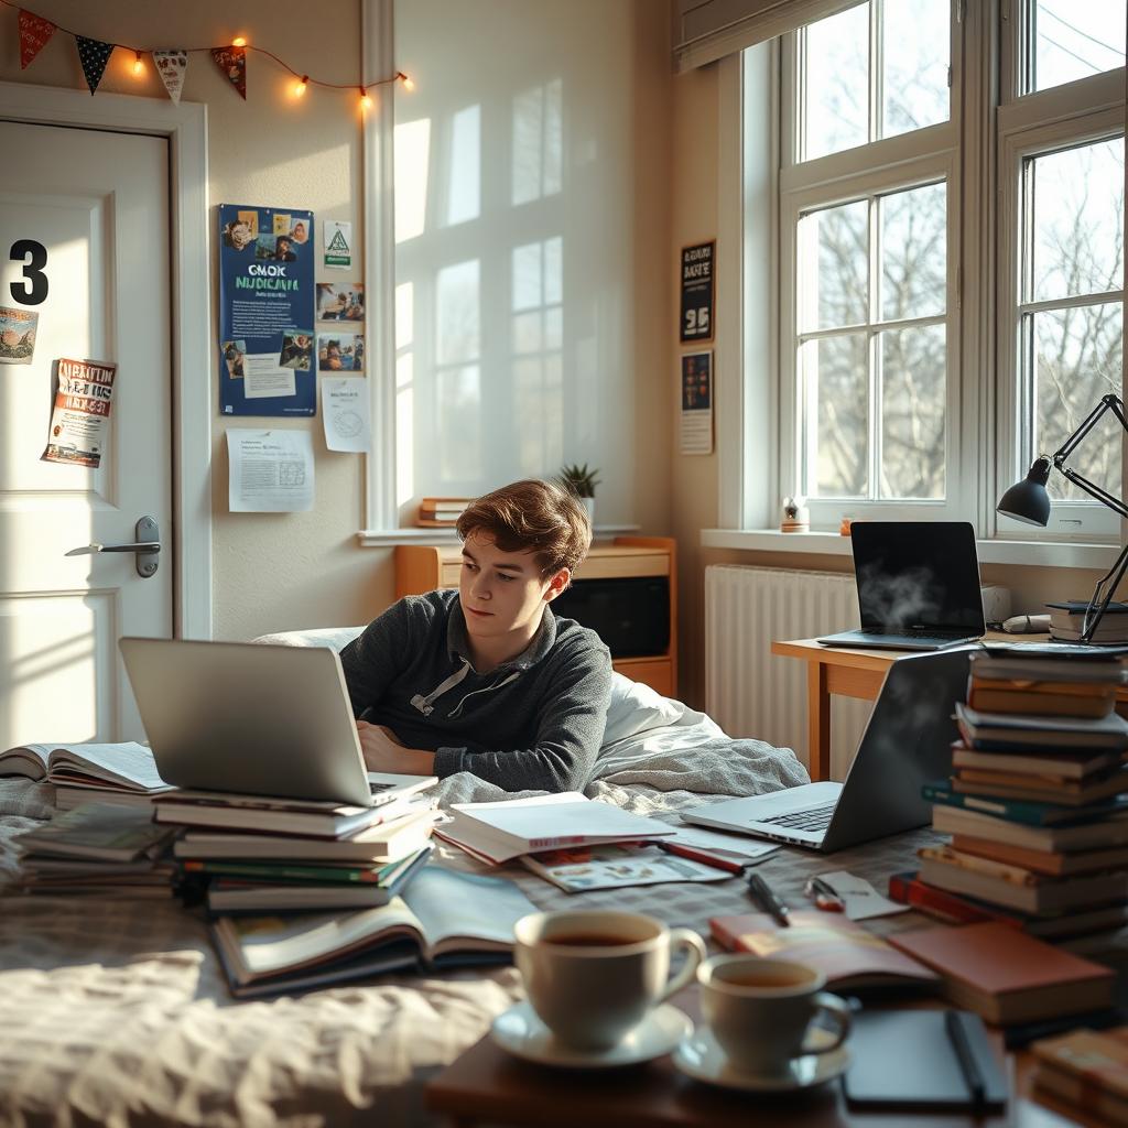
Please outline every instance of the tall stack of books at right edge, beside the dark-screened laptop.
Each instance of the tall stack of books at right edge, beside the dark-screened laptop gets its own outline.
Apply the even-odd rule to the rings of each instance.
[[[929,784],[933,827],[891,895],[963,920],[1043,937],[1128,920],[1128,721],[1113,712],[1120,663],[977,654],[952,776]]]

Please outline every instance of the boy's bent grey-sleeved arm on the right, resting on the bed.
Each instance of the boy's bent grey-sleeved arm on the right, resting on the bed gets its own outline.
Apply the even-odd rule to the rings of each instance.
[[[581,791],[591,776],[607,723],[611,660],[591,647],[562,664],[539,705],[531,748],[496,749],[466,742],[434,754],[438,776],[472,772],[506,791]]]

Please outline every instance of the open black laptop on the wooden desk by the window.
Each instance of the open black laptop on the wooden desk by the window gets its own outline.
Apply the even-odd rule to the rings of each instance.
[[[822,645],[927,651],[982,636],[968,521],[855,521],[851,540],[862,626],[817,640]]]

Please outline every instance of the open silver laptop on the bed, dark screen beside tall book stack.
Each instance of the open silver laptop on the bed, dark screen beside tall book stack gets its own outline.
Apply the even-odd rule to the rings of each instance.
[[[920,786],[952,770],[952,706],[968,690],[971,649],[893,662],[845,783],[809,783],[770,795],[682,811],[687,822],[831,851],[932,820]]]

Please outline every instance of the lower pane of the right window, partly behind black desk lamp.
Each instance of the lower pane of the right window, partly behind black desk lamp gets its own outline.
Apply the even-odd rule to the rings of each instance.
[[[1033,315],[1033,455],[1052,453],[1110,391],[1120,395],[1122,307],[1118,301]],[[1120,496],[1123,430],[1110,413],[1074,451],[1069,465],[1090,482]],[[1029,465],[1029,464],[1028,464]],[[1090,500],[1060,474],[1051,474],[1051,497]]]

